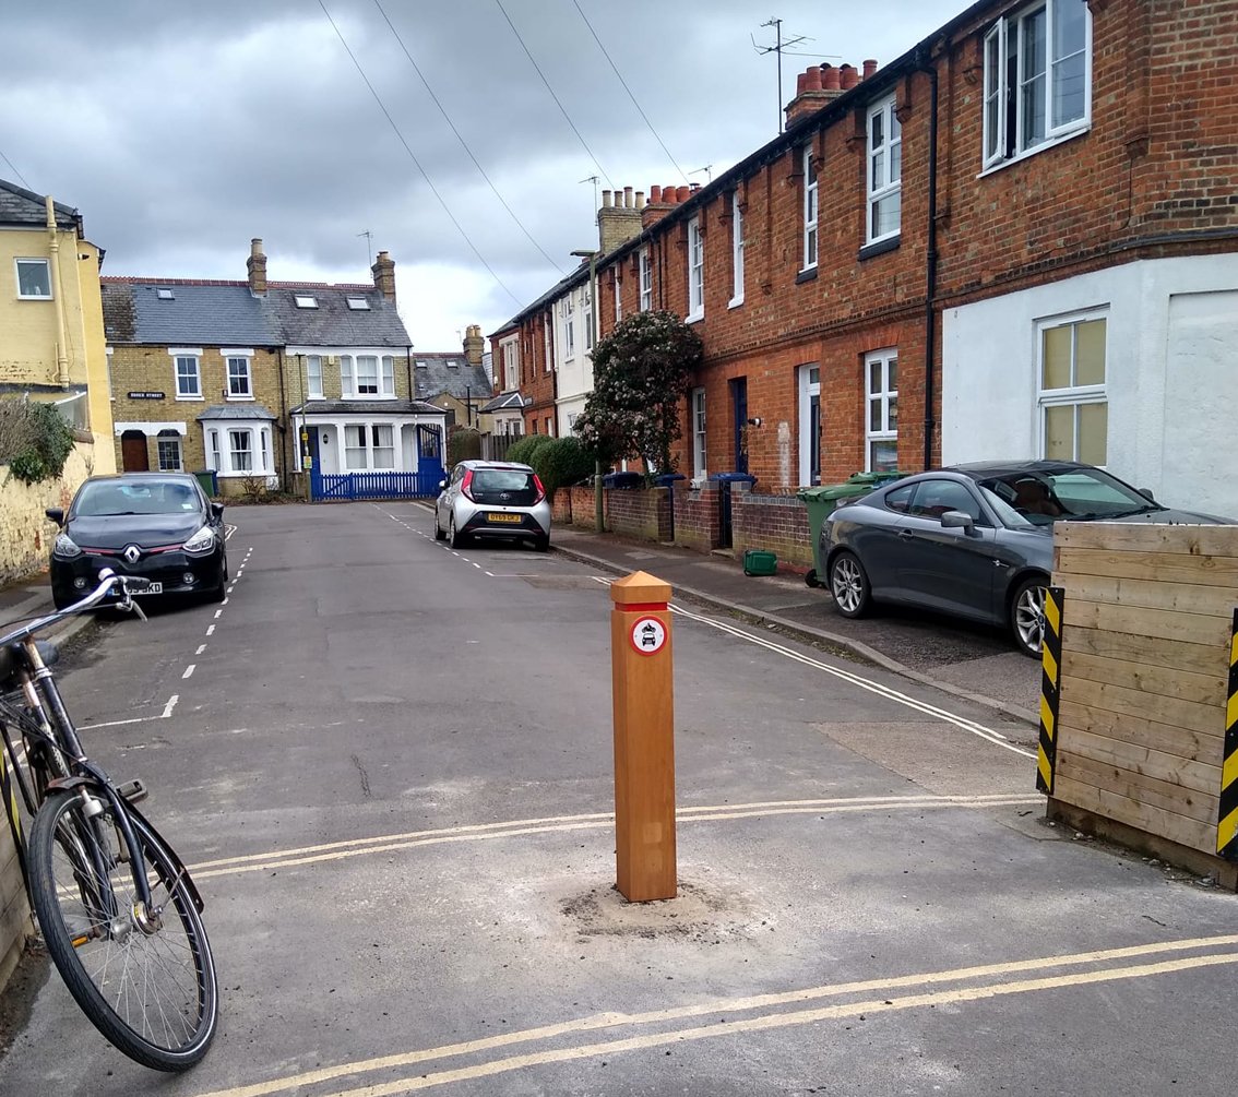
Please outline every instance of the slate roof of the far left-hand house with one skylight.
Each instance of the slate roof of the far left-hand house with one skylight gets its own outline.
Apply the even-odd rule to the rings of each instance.
[[[277,347],[262,308],[246,282],[100,279],[103,329],[109,343],[160,347]],[[161,300],[158,291],[171,292]]]

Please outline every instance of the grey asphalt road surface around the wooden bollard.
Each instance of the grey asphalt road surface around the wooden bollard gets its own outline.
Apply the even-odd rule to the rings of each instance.
[[[62,682],[194,869],[219,1036],[152,1075],[53,974],[0,1093],[1232,1091],[1238,900],[1042,822],[1030,727],[686,607],[681,894],[629,906],[608,579],[412,505],[229,518],[224,605]]]

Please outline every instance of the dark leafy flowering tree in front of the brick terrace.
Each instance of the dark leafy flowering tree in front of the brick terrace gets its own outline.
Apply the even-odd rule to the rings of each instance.
[[[641,457],[673,472],[681,401],[701,364],[701,337],[673,312],[636,312],[593,348],[593,391],[576,433],[604,461]]]

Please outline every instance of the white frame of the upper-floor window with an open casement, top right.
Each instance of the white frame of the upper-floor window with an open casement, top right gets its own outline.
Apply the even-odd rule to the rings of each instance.
[[[1065,5],[1078,4],[1083,11],[1083,45],[1072,53],[1054,56],[1055,26]],[[1024,72],[1026,42],[1024,35],[1029,21],[1045,12],[1045,67],[1029,77]],[[1011,56],[1011,37],[1014,54]],[[1054,89],[1057,69],[1072,57],[1083,58],[1082,111],[1062,123],[1054,124]],[[1092,41],[1092,11],[1086,0],[1034,0],[1016,11],[1003,15],[985,32],[980,43],[983,77],[980,83],[980,167],[982,173],[1015,163],[1028,156],[1051,149],[1092,125],[1092,66],[1094,61]],[[1014,77],[1011,79],[1011,61]],[[1044,80],[1040,108],[1044,111],[1044,136],[1028,144],[1026,109],[1024,89],[1029,79]],[[1068,74],[1065,77],[1068,79]],[[1014,132],[1010,132],[1011,121]]]

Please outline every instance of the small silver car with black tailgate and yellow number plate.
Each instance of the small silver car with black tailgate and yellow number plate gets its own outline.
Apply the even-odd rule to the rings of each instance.
[[[438,489],[436,541],[459,548],[470,537],[524,537],[550,548],[550,500],[527,464],[462,461]]]

